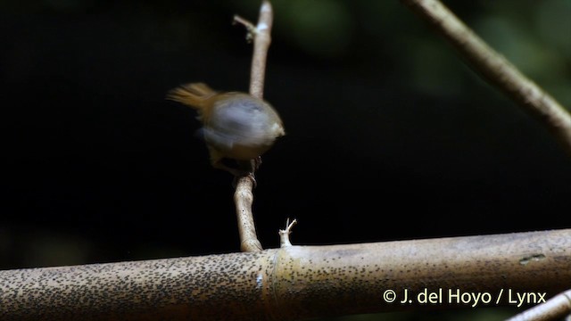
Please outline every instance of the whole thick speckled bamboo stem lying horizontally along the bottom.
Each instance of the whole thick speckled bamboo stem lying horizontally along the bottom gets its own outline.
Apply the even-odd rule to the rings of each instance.
[[[569,249],[565,229],[0,271],[0,319],[285,320],[514,305],[508,291],[548,299],[567,290]],[[418,302],[439,289],[442,303]],[[449,291],[492,301],[473,307]]]

